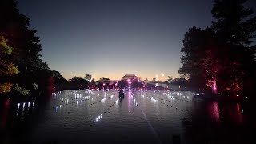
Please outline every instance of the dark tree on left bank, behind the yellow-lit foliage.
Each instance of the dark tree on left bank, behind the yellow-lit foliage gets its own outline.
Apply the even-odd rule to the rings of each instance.
[[[36,36],[37,30],[30,29],[30,18],[20,14],[17,3],[12,0],[0,1],[0,18],[0,34],[6,38],[7,46],[13,49],[6,60],[17,66],[19,71],[8,81],[18,83],[14,85],[16,90],[21,90],[21,87],[43,90],[51,71],[46,62],[42,62],[40,38]]]

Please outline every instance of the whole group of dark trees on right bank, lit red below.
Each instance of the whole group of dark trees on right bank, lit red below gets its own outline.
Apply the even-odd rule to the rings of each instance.
[[[253,96],[256,17],[245,3],[215,0],[212,25],[205,29],[194,26],[186,32],[179,73],[189,79],[190,86],[221,98]]]

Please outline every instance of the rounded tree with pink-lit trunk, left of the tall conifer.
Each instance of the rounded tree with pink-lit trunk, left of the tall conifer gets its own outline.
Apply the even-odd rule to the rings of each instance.
[[[182,47],[182,67],[178,71],[183,77],[189,78],[194,86],[212,88],[216,92],[218,60],[214,46],[214,30],[192,27],[185,34]]]

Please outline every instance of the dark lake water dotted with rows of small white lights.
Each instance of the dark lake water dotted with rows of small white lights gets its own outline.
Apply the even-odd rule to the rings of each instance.
[[[45,101],[1,103],[0,143],[251,143],[239,103],[191,92],[64,90]]]

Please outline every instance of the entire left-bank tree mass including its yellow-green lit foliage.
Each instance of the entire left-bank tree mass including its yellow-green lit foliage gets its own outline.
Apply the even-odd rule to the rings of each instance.
[[[20,14],[17,3],[0,1],[0,94],[31,95],[65,81],[42,62],[40,38],[30,29],[30,18]]]

